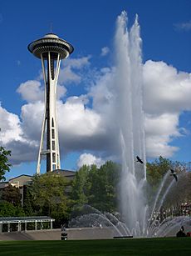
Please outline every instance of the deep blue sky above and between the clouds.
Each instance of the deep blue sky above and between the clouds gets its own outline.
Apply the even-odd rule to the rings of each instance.
[[[140,35],[143,40],[143,63],[149,60],[153,61],[153,63],[148,64],[146,67],[154,68],[156,63],[163,62],[166,65],[164,67],[165,70],[172,66],[178,73],[184,72],[189,75],[191,58],[191,2],[189,0],[176,0],[174,2],[164,0],[0,1],[0,29],[2,33],[0,41],[0,67],[2,71],[0,102],[3,110],[0,113],[2,115],[0,120],[3,122],[0,123],[0,127],[4,127],[4,130],[2,128],[2,135],[3,132],[5,133],[5,130],[10,130],[10,133],[16,134],[15,138],[12,136],[8,138],[8,142],[4,141],[2,144],[6,147],[10,146],[15,152],[17,139],[20,139],[18,138],[20,136],[18,133],[21,133],[20,128],[22,133],[25,133],[28,128],[27,110],[29,111],[29,107],[22,107],[35,103],[32,102],[31,98],[28,100],[26,95],[23,96],[26,92],[23,91],[23,87],[20,88],[21,84],[33,81],[32,86],[38,88],[36,82],[40,81],[42,92],[43,83],[40,79],[41,62],[27,51],[27,44],[49,33],[52,26],[54,33],[66,39],[74,46],[75,51],[70,59],[77,60],[80,68],[76,68],[74,63],[70,63],[70,59],[69,63],[66,63],[67,67],[73,68],[71,80],[68,78],[66,81],[63,78],[63,81],[60,82],[61,86],[66,89],[66,93],[61,96],[62,102],[66,103],[70,97],[80,97],[82,94],[87,95],[90,93],[92,86],[91,78],[93,77],[94,83],[97,84],[98,77],[100,78],[100,73],[102,72],[101,68],[112,67],[115,22],[123,10],[128,13],[128,26],[132,26],[134,23],[135,14],[139,15]],[[103,48],[109,49],[109,53],[101,55],[101,49]],[[67,67],[64,64],[62,65],[63,74],[65,74],[64,70]],[[74,77],[75,74],[77,77]],[[179,80],[180,78],[177,79]],[[168,81],[165,83],[168,86]],[[20,93],[18,88],[20,88]],[[40,88],[38,89],[40,90]],[[92,98],[89,98],[87,108],[91,108],[91,100]],[[180,102],[182,103],[184,100],[181,99]],[[34,105],[32,105],[33,107]],[[189,103],[179,107],[179,110],[176,112],[178,121],[174,123],[176,131],[169,131],[168,136],[170,139],[164,142],[169,146],[179,148],[179,150],[172,149],[171,153],[166,155],[174,160],[190,161],[190,109]],[[14,115],[12,116],[12,114]],[[97,113],[91,112],[86,114],[89,118],[92,118],[92,115],[94,115],[94,118],[98,118],[96,116]],[[12,125],[15,127],[15,130],[10,128],[11,124],[6,127],[6,118],[11,118],[10,122],[13,122]],[[35,128],[33,127],[32,131],[35,131]],[[91,128],[96,130],[93,126]],[[179,128],[181,129],[179,130]],[[177,135],[176,132],[178,130],[181,135]],[[23,138],[19,146],[19,153],[14,154],[12,151],[15,158],[14,163],[17,163],[17,165],[14,165],[12,171],[7,173],[7,178],[21,173],[35,173],[37,136],[32,131],[28,134],[26,133],[26,138],[31,136],[32,143],[30,147],[27,145],[26,150],[28,150],[28,153],[32,150],[32,157],[23,155],[22,158],[22,150],[25,148],[25,143],[23,143],[25,134],[22,134]],[[63,134],[66,134],[64,128]],[[93,132],[92,134],[95,135]],[[92,143],[96,142],[96,137],[94,139],[92,139]],[[89,138],[90,140],[91,137]],[[101,161],[109,158],[109,154],[102,150],[99,143],[97,143],[97,146],[96,143],[92,146],[88,145],[88,143],[83,145],[83,143],[79,142],[81,143],[81,147],[79,147],[68,139],[65,149],[64,141],[63,139],[63,143],[61,143],[62,168],[76,169],[76,162],[81,153],[91,153],[96,156],[96,161],[98,161],[96,163],[102,163]],[[33,146],[34,150],[32,149]],[[154,158],[154,154],[149,154],[150,157],[148,155],[148,158]]]

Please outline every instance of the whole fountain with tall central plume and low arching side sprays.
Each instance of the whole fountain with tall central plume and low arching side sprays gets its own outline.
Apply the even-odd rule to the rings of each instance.
[[[71,221],[73,227],[99,226],[112,227],[115,235],[135,237],[164,236],[174,228],[190,223],[190,218],[169,217],[159,221],[157,214],[164,203],[166,195],[174,185],[169,183],[167,172],[162,180],[152,205],[147,203],[145,189],[146,167],[136,162],[139,156],[144,163],[144,111],[141,38],[138,17],[127,28],[127,15],[122,12],[117,19],[115,33],[115,120],[119,124],[119,142],[122,172],[120,178],[120,220],[111,213],[100,213],[91,206],[86,206],[91,213],[83,213]],[[168,184],[168,185],[167,185]],[[174,231],[175,230],[175,231]]]

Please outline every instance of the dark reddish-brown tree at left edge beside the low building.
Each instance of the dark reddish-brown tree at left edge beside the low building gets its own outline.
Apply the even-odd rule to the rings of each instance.
[[[8,184],[2,192],[2,200],[12,203],[14,206],[21,206],[21,198],[22,195],[19,188],[12,187],[11,184]]]

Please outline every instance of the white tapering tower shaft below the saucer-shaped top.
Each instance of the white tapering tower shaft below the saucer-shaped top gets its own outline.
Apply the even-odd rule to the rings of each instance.
[[[42,53],[42,72],[45,83],[45,113],[42,122],[42,136],[37,161],[40,173],[42,155],[47,155],[47,172],[61,168],[56,114],[56,86],[60,70],[59,53]],[[47,145],[44,145],[47,133]],[[46,146],[46,150],[45,150]]]

